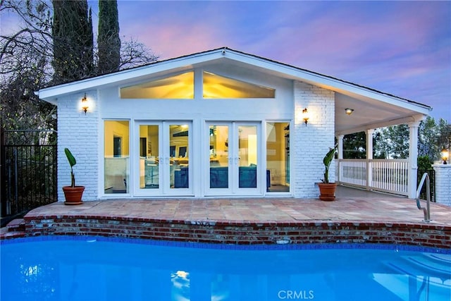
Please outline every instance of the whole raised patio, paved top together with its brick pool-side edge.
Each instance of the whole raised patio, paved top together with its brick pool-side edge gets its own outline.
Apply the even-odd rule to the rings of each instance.
[[[294,198],[56,202],[2,228],[0,238],[103,235],[227,244],[392,243],[451,249],[451,207],[339,188],[335,202]],[[362,197],[364,192],[364,197]],[[352,194],[356,195],[352,195]],[[422,204],[425,205],[424,203]]]

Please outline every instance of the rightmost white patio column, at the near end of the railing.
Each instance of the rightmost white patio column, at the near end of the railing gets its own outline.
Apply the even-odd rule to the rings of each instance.
[[[409,166],[407,170],[407,197],[414,199],[416,197],[416,173],[418,165],[418,128],[420,121],[408,123],[409,125]]]

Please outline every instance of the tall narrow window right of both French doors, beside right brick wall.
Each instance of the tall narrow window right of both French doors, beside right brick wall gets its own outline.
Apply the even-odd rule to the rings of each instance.
[[[266,188],[290,191],[290,123],[266,123]]]

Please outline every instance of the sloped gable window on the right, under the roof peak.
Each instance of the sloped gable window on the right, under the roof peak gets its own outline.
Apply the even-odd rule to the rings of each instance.
[[[204,72],[204,98],[274,98],[276,90]]]

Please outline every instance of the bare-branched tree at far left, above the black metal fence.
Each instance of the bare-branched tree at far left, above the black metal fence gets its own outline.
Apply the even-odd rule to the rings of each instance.
[[[51,80],[51,7],[45,1],[2,1],[0,11],[20,17],[22,27],[0,37],[1,127],[6,130],[56,129],[55,106],[39,101],[35,91]],[[30,134],[31,135],[31,134]],[[8,135],[8,142],[33,137]]]

